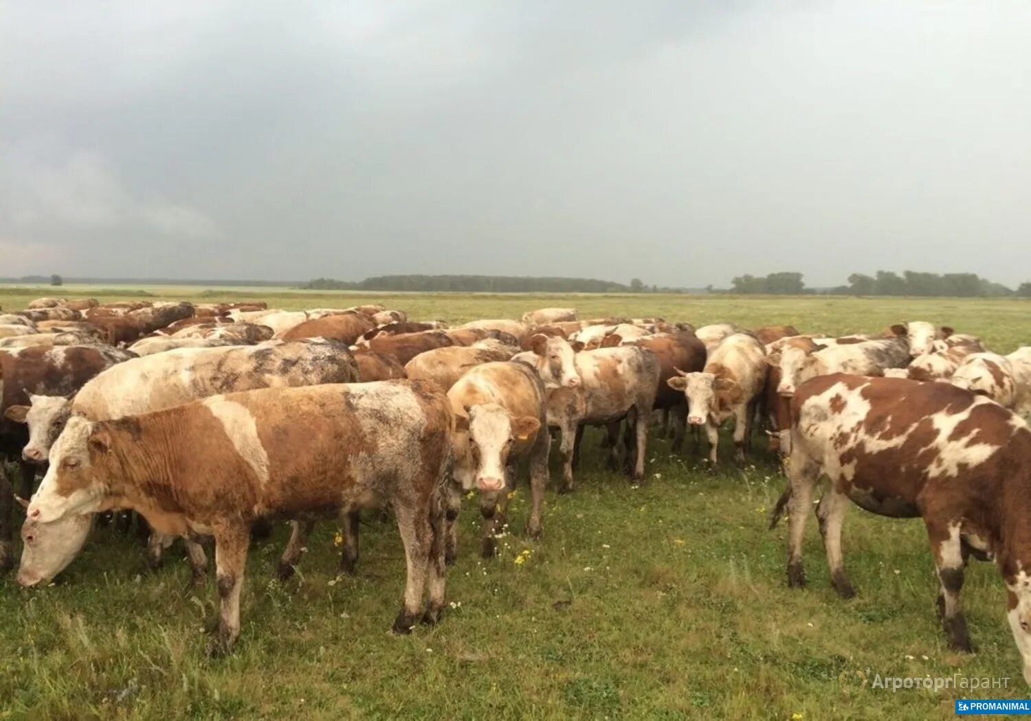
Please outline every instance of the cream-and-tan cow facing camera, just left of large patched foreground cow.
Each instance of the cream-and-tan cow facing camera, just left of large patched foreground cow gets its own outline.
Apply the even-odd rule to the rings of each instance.
[[[734,454],[738,462],[752,444],[752,421],[766,381],[766,350],[755,336],[735,333],[712,350],[701,373],[684,373],[666,381],[688,402],[688,423],[705,425],[709,462],[717,462],[720,425],[734,418]]]

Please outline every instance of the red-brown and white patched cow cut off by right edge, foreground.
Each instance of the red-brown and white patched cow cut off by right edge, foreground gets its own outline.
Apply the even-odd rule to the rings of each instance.
[[[970,651],[960,603],[969,556],[993,558],[1006,584],[1008,619],[1031,683],[1031,431],[1000,406],[947,383],[835,374],[800,385],[788,466],[788,580],[802,586],[802,539],[821,477],[830,486],[817,517],[831,583],[855,593],[844,572],[846,499],[883,516],[924,520],[941,588],[950,645]]]

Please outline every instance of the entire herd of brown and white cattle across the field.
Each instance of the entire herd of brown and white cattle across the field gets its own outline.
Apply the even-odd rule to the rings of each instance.
[[[790,585],[804,584],[804,524],[822,479],[816,515],[841,596],[855,593],[841,552],[846,500],[923,518],[950,645],[971,648],[967,560],[992,559],[1031,683],[1031,347],[999,355],[922,321],[834,338],[580,320],[565,308],[448,328],[377,305],[40,299],[0,312],[0,413],[10,469],[0,465],[0,569],[14,564],[15,502],[24,586],[58,575],[94,519],[112,513],[145,530],[152,563],[181,539],[198,580],[213,538],[212,653],[239,634],[246,552],[268,519],[292,524],[287,578],[318,519],[338,519],[341,565],[354,573],[360,512],[391,511],[406,557],[394,623],[404,633],[440,618],[467,495],[478,495],[489,557],[517,469],[528,467],[527,534],[539,536],[553,436],[568,492],[588,425],[605,430],[610,467],[639,480],[650,434],[683,452],[687,427],[704,428],[716,464],[720,426],[733,419],[738,461],[767,436],[785,459],[771,520],[787,511]]]

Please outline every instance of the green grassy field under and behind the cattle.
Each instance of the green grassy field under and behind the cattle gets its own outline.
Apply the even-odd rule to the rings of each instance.
[[[980,335],[1003,352],[1031,343],[1031,306],[1018,301],[373,297],[269,288],[218,290],[203,300],[244,295],[282,308],[374,300],[450,321],[518,317],[552,305],[576,306],[585,315],[791,322],[827,333],[927,319]],[[0,288],[5,309],[27,300]],[[403,584],[392,524],[369,521],[358,575],[340,578],[334,529],[321,524],[300,578],[289,583],[274,580],[287,530],[279,524],[270,542],[252,550],[240,643],[223,660],[203,654],[213,587],[190,588],[178,554],[160,571],[145,571],[140,547],[99,529],[56,585],[29,592],[11,577],[0,580],[0,719],[926,719],[952,717],[960,695],[1027,697],[992,565],[974,563],[963,589],[978,652],[946,648],[919,520],[850,511],[845,562],[859,591],[851,602],[831,590],[810,523],[809,587],[791,590],[786,528],[766,530],[783,479],[765,452],[713,474],[691,443],[675,456],[653,436],[646,481],[633,486],[603,469],[598,442],[589,432],[576,491],[548,491],[538,542],[522,533],[523,477],[509,514],[513,533],[493,560],[475,553],[478,513],[467,505],[448,577],[454,608],[440,625],[405,638],[388,633]],[[553,477],[559,475],[553,462]],[[521,554],[525,560],[517,562]],[[1004,678],[1008,688],[892,692],[872,688],[877,674]]]

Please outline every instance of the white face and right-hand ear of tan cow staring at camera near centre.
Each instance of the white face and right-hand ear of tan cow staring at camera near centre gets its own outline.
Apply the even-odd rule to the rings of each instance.
[[[469,452],[475,469],[476,487],[483,491],[504,488],[505,468],[512,444],[530,441],[539,427],[537,418],[513,418],[497,404],[469,409]]]

